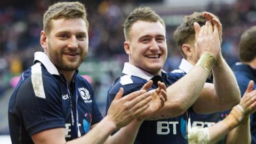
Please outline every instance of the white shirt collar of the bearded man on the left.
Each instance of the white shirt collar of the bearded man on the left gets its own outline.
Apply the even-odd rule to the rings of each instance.
[[[52,75],[60,75],[58,69],[53,65],[49,57],[44,52],[35,52],[35,60],[40,61],[43,63],[44,67],[47,71]]]

